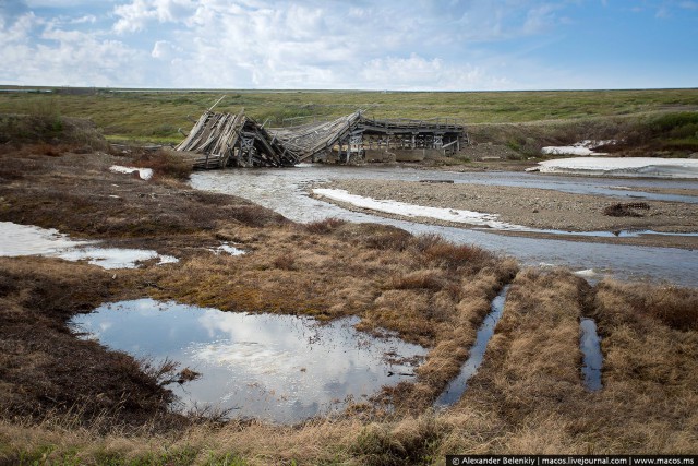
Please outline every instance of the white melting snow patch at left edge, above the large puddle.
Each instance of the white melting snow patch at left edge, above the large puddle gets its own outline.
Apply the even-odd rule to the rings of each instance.
[[[158,264],[177,262],[171,255],[143,249],[98,248],[94,241],[74,241],[56,229],[0,222],[0,255],[45,255],[67,261],[86,260],[103,268],[135,268],[141,261],[159,259]]]

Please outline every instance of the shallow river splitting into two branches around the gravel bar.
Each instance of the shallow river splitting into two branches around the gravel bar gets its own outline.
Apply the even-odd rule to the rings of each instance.
[[[310,183],[335,179],[385,179],[418,181],[453,180],[480,183],[541,188],[579,194],[615,196],[628,200],[681,201],[698,203],[698,196],[658,194],[651,189],[698,190],[695,180],[610,179],[546,176],[526,172],[448,172],[382,166],[329,166],[302,164],[289,169],[243,169],[197,172],[192,176],[196,189],[234,194],[272,208],[296,222],[315,222],[328,217],[349,222],[394,225],[413,234],[436,232],[445,238],[477,244],[498,253],[516,256],[526,265],[562,265],[571,270],[593,270],[626,279],[650,278],[684,286],[698,283],[698,250],[604,244],[503,236],[485,230],[424,225],[356,213],[312,199]]]

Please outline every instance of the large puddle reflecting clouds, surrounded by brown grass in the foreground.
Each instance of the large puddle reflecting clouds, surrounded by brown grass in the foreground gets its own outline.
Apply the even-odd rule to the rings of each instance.
[[[201,372],[198,380],[169,385],[179,408],[209,404],[232,409],[232,417],[296,422],[413,379],[426,350],[358,332],[358,322],[320,325],[310,318],[140,299],[103,304],[71,323],[113,349],[167,357]]]

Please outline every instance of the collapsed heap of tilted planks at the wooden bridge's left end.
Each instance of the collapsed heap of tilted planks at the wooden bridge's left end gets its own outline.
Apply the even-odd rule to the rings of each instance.
[[[240,111],[204,112],[176,151],[202,154],[194,168],[292,167],[298,154]]]

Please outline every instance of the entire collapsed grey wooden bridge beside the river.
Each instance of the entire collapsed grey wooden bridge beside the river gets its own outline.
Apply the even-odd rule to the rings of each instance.
[[[265,129],[240,113],[204,112],[176,151],[200,156],[194,168],[288,167],[304,160],[361,160],[366,151],[438,150],[459,152],[468,143],[455,120],[374,120],[359,110],[333,121]]]

